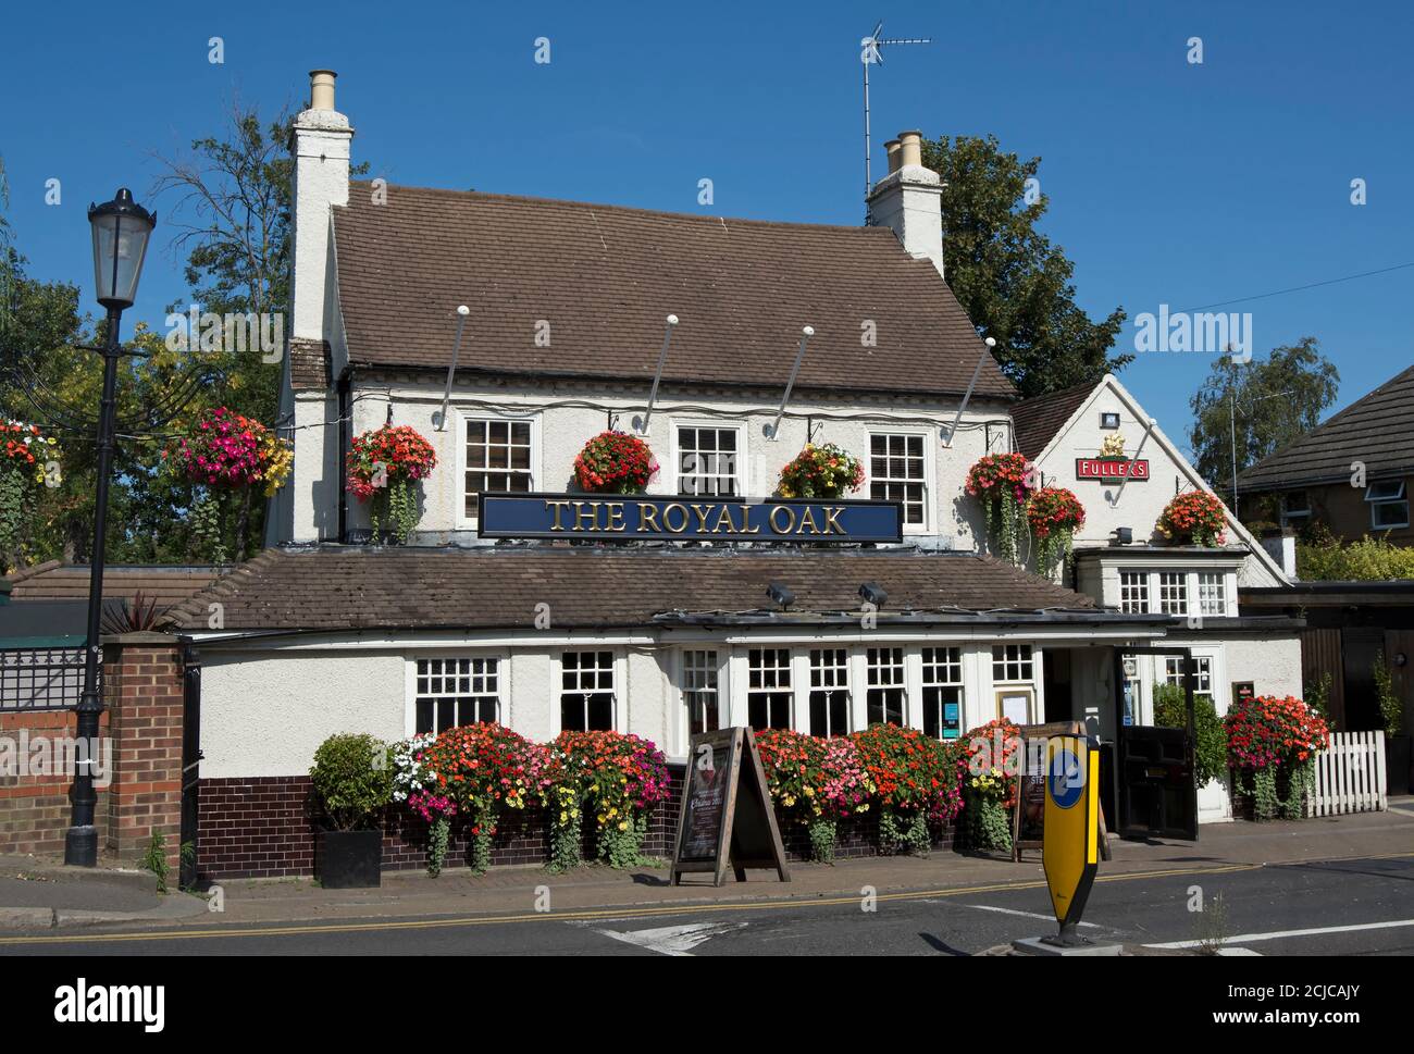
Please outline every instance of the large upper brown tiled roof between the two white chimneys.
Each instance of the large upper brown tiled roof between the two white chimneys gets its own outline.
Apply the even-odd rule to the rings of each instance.
[[[334,209],[339,304],[355,364],[653,376],[783,388],[814,327],[803,389],[960,393],[986,348],[947,283],[888,228],[768,224],[573,201],[355,183]],[[536,347],[536,323],[550,324]],[[877,347],[861,347],[861,324]],[[978,396],[1014,399],[988,357]]]

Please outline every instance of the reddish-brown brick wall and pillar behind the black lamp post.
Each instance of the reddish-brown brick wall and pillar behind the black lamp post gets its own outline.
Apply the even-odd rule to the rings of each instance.
[[[129,634],[105,642],[106,709],[99,734],[107,740],[109,785],[98,788],[93,822],[99,846],[123,863],[146,852],[153,830],[167,838],[168,863],[178,859],[181,830],[181,652],[164,634]],[[72,737],[71,710],[0,712],[8,750],[35,739]],[[0,775],[0,853],[64,856],[72,771]]]

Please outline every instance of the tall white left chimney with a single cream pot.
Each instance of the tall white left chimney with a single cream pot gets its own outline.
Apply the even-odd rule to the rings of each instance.
[[[334,109],[332,69],[310,72],[310,108],[294,119],[290,151],[294,245],[290,282],[291,340],[328,340],[325,318],[329,208],[349,201],[349,119]]]

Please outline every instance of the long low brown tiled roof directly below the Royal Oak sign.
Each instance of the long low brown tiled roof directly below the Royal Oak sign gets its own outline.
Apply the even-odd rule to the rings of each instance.
[[[554,628],[631,627],[673,611],[771,608],[772,581],[796,594],[795,613],[857,613],[865,581],[888,591],[881,617],[1094,607],[974,553],[324,546],[267,549],[171,614],[187,630],[206,628],[211,603],[226,630],[519,628],[549,604]]]

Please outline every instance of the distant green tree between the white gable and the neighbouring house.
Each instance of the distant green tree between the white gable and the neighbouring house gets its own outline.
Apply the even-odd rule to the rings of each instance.
[[[1234,430],[1241,473],[1314,429],[1339,388],[1340,373],[1315,337],[1273,348],[1266,359],[1220,355],[1189,400],[1193,467],[1215,487],[1223,481],[1230,488]]]

